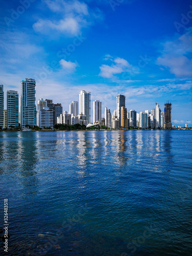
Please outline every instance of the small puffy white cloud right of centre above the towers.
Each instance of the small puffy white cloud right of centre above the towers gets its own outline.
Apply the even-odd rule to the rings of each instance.
[[[102,64],[100,68],[99,76],[103,78],[112,78],[116,74],[121,74],[122,72],[131,72],[133,68],[130,63],[123,58],[113,58],[111,55],[105,56],[106,60],[112,61],[111,66]]]

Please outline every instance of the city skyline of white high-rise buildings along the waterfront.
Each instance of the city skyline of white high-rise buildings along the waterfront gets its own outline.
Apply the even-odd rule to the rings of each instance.
[[[26,127],[29,124],[30,126],[37,125],[40,128],[51,127],[53,129],[54,125],[57,123],[63,124],[66,123],[65,120],[68,120],[67,124],[71,125],[81,122],[80,120],[82,118],[83,120],[86,120],[86,123],[84,123],[86,125],[88,123],[96,123],[98,121],[100,124],[103,122],[106,127],[112,127],[115,129],[117,129],[118,126],[119,128],[129,128],[130,126],[142,127],[142,129],[147,129],[148,127],[151,127],[152,129],[163,129],[163,127],[165,129],[171,129],[172,125],[175,127],[175,124],[172,122],[172,103],[169,101],[164,103],[163,111],[161,110],[158,102],[155,103],[155,109],[152,109],[151,112],[150,110],[145,110],[145,112],[137,112],[136,110],[129,111],[125,108],[126,97],[118,94],[116,96],[117,105],[113,115],[111,115],[110,109],[108,110],[107,106],[105,106],[104,113],[102,113],[102,102],[99,100],[93,101],[92,113],[91,92],[81,90],[79,92],[79,102],[72,101],[69,105],[69,110],[62,111],[62,104],[54,104],[52,99],[44,100],[43,98],[40,98],[37,102],[37,106],[34,104],[36,99],[36,81],[34,79],[26,78],[25,80],[22,80],[20,84],[20,97],[17,91],[7,91],[7,110],[4,108],[4,111],[2,111],[2,106],[5,100],[4,91],[2,90],[4,86],[3,84],[1,85],[2,97],[0,107],[2,108],[1,114],[4,116],[4,128],[17,128],[20,123],[20,126],[22,127]],[[17,97],[16,100],[14,95]],[[9,98],[10,102],[8,104]],[[57,110],[57,108],[59,108],[59,110]],[[123,115],[123,117],[121,117],[121,115]],[[124,119],[125,116],[126,120]],[[22,120],[23,117],[24,121]],[[42,121],[39,118],[42,119]],[[11,120],[10,124],[9,119]],[[91,121],[92,119],[93,121]],[[27,122],[25,120],[27,120]],[[109,122],[109,120],[111,120],[111,122]],[[40,124],[41,122],[44,124],[46,123],[47,126]],[[123,124],[121,124],[121,122],[123,122]],[[166,123],[165,126],[164,123]],[[189,120],[187,120],[183,126],[186,127],[188,124],[190,126]]]

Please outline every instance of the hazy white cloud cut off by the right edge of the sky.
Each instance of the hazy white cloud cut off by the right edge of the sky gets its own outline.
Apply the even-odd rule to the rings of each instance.
[[[173,41],[163,44],[162,56],[157,58],[157,64],[169,69],[177,77],[192,76],[192,27],[185,34]]]

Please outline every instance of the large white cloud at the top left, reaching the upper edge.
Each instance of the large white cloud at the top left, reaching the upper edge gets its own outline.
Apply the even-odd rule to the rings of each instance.
[[[95,20],[102,18],[100,10],[89,10],[84,2],[78,0],[58,1],[46,0],[52,12],[58,13],[58,18],[38,19],[33,28],[37,32],[48,34],[59,32],[67,36],[78,36],[82,28],[94,25]]]

